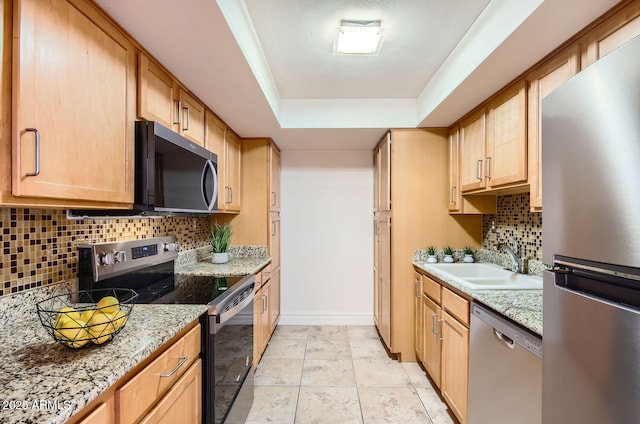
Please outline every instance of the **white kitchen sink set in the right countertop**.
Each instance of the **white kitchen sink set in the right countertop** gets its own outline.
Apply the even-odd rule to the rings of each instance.
[[[430,264],[444,276],[476,290],[541,289],[542,278],[517,274],[487,263]]]

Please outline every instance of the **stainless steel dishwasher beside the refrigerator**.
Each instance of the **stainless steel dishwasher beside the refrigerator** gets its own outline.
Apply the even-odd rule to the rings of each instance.
[[[542,422],[542,339],[471,305],[468,424]]]

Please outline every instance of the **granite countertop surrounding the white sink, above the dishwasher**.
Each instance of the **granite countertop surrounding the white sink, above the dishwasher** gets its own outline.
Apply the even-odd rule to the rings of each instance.
[[[542,336],[542,289],[473,290],[455,279],[449,278],[448,274],[443,274],[425,261],[414,260],[413,264],[528,330]]]

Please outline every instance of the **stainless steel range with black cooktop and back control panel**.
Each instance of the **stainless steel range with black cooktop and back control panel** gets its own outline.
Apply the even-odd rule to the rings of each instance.
[[[174,273],[175,236],[78,247],[80,290],[129,288],[138,303],[202,304],[203,418],[244,423],[253,403],[253,275]]]

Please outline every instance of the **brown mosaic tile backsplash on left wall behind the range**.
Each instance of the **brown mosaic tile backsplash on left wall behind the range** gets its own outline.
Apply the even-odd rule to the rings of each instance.
[[[67,219],[64,210],[0,208],[0,296],[67,281],[77,245],[176,235],[181,249],[208,245],[208,217]]]

